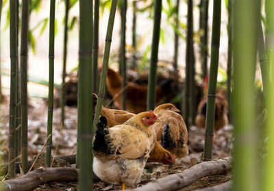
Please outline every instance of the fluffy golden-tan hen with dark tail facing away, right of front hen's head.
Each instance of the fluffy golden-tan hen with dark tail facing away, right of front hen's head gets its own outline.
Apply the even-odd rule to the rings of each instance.
[[[183,117],[173,104],[162,104],[153,111],[159,121],[151,128],[155,130],[157,141],[176,158],[188,155],[188,130]]]

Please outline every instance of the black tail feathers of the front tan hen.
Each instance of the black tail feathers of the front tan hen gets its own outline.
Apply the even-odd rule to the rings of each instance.
[[[95,132],[95,141],[93,143],[93,150],[110,154],[110,148],[108,147],[108,141],[106,141],[106,135],[110,134],[110,128],[107,125],[107,119],[103,116],[100,117],[100,122],[97,123],[97,130]]]

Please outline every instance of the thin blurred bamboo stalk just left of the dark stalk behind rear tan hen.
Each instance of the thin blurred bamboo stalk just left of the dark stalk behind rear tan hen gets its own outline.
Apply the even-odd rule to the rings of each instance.
[[[176,11],[175,11],[175,26],[177,29],[179,29],[179,0],[176,0]],[[178,33],[174,30],[174,59],[173,59],[173,68],[174,68],[174,73],[176,76],[176,79],[179,78],[178,74],[178,44],[179,44],[179,35]]]

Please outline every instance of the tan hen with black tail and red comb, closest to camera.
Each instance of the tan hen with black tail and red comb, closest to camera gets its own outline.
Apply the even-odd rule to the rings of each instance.
[[[140,182],[155,134],[149,126],[157,117],[153,111],[135,115],[125,123],[109,128],[100,117],[94,139],[93,171],[103,181],[122,184],[122,188]]]

